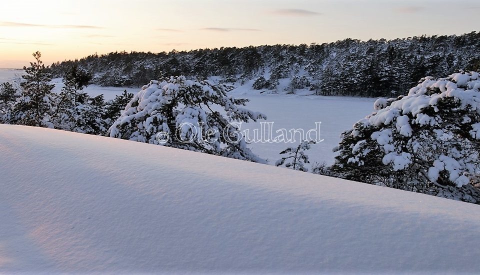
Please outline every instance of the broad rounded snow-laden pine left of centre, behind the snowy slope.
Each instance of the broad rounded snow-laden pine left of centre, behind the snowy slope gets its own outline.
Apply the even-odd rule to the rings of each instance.
[[[165,132],[169,139],[161,145],[265,163],[237,138],[238,125],[230,122],[266,116],[242,107],[248,99],[227,96],[229,89],[184,76],[152,80],[126,105],[110,136],[160,144],[157,133]]]

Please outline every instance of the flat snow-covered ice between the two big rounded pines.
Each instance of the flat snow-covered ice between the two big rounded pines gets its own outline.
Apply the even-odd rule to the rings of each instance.
[[[234,92],[234,90],[233,90]],[[311,163],[326,162],[331,164],[335,153],[332,148],[338,145],[340,134],[351,128],[354,122],[373,110],[374,98],[355,98],[316,95],[275,95],[275,94],[234,94],[250,99],[246,107],[261,111],[267,115],[266,121],[272,121],[273,129],[303,129],[305,132],[315,128],[315,122],[321,122],[319,138],[323,141],[312,144],[306,151]],[[259,129],[261,121],[242,124],[242,129]],[[249,147],[260,157],[265,157],[270,164],[280,158],[278,154],[296,143],[251,143]],[[310,168],[310,165],[306,165]]]

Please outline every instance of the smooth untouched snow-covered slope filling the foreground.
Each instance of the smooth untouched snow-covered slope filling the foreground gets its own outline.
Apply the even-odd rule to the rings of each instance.
[[[480,206],[0,125],[0,272],[477,272]]]

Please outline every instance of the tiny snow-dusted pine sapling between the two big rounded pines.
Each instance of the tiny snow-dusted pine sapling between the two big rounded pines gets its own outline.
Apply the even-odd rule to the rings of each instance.
[[[310,163],[308,155],[305,154],[306,150],[310,149],[310,144],[314,144],[315,141],[303,140],[296,147],[288,147],[280,152],[285,156],[281,157],[275,162],[275,166],[285,166],[293,170],[299,170],[307,172],[308,168],[305,168],[305,163]]]

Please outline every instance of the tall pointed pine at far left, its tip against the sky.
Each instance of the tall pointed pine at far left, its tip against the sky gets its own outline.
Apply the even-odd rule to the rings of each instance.
[[[45,67],[40,60],[40,52],[33,53],[35,62],[30,62],[29,67],[23,67],[21,95],[12,109],[10,123],[29,126],[53,128],[51,116],[54,99],[50,84],[48,66]]]

